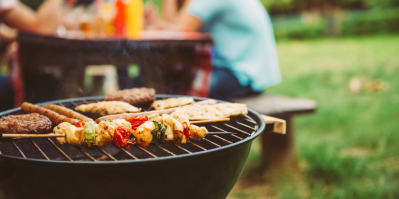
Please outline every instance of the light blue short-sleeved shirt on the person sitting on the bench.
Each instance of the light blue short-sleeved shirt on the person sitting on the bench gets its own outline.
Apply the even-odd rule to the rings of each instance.
[[[254,91],[281,82],[273,27],[259,0],[193,0],[188,11],[212,35],[214,67],[227,67]]]

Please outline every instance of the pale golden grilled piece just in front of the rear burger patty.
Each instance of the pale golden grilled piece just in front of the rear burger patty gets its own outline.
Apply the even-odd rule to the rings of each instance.
[[[134,107],[126,102],[104,101],[91,104],[82,104],[75,108],[84,113],[94,113],[97,115],[114,115],[120,113],[137,113],[141,109]]]

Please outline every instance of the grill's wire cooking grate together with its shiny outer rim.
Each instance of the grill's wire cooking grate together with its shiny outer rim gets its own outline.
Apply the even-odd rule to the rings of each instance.
[[[156,98],[159,100],[171,97],[181,96],[157,95]],[[103,97],[75,98],[45,102],[38,105],[57,104],[74,109],[80,104],[99,102],[103,99]],[[194,98],[194,100],[202,101],[206,100],[206,98]],[[143,106],[142,108],[146,109],[148,108],[148,105]],[[20,108],[16,108],[0,113],[0,117],[23,113],[24,112]],[[95,118],[93,115],[87,116]],[[72,164],[113,164],[188,158],[192,156],[207,155],[220,150],[229,150],[246,142],[250,142],[262,133],[265,129],[265,125],[264,120],[258,113],[248,109],[248,115],[232,117],[229,122],[199,124],[199,126],[205,126],[211,132],[235,132],[236,134],[208,135],[201,141],[190,139],[185,145],[177,145],[170,142],[166,142],[165,144],[151,144],[147,148],[135,145],[129,150],[115,145],[108,145],[103,148],[96,147],[94,149],[72,147],[68,144],[59,145],[56,143],[55,138],[35,138],[11,141],[1,140],[0,159]]]

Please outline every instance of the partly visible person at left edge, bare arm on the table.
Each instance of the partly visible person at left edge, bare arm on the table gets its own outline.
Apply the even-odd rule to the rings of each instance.
[[[0,23],[4,23],[11,28],[17,30],[32,32],[36,34],[54,34],[59,25],[58,10],[64,0],[45,0],[37,11],[32,10],[26,5],[18,2],[18,0],[1,0],[0,1]],[[71,0],[66,1],[72,2]],[[0,24],[1,25],[1,24]],[[8,62],[14,61],[18,45],[15,41],[16,34],[10,36],[3,31],[0,32],[0,44],[7,45],[6,58]],[[15,67],[10,67],[9,76],[14,77],[13,82],[10,83],[9,76],[0,76],[0,111],[4,111],[13,107],[16,103],[14,101],[14,90],[21,89],[21,84],[16,85],[15,80],[21,79],[20,70],[15,70]],[[14,87],[14,88],[12,88]]]

